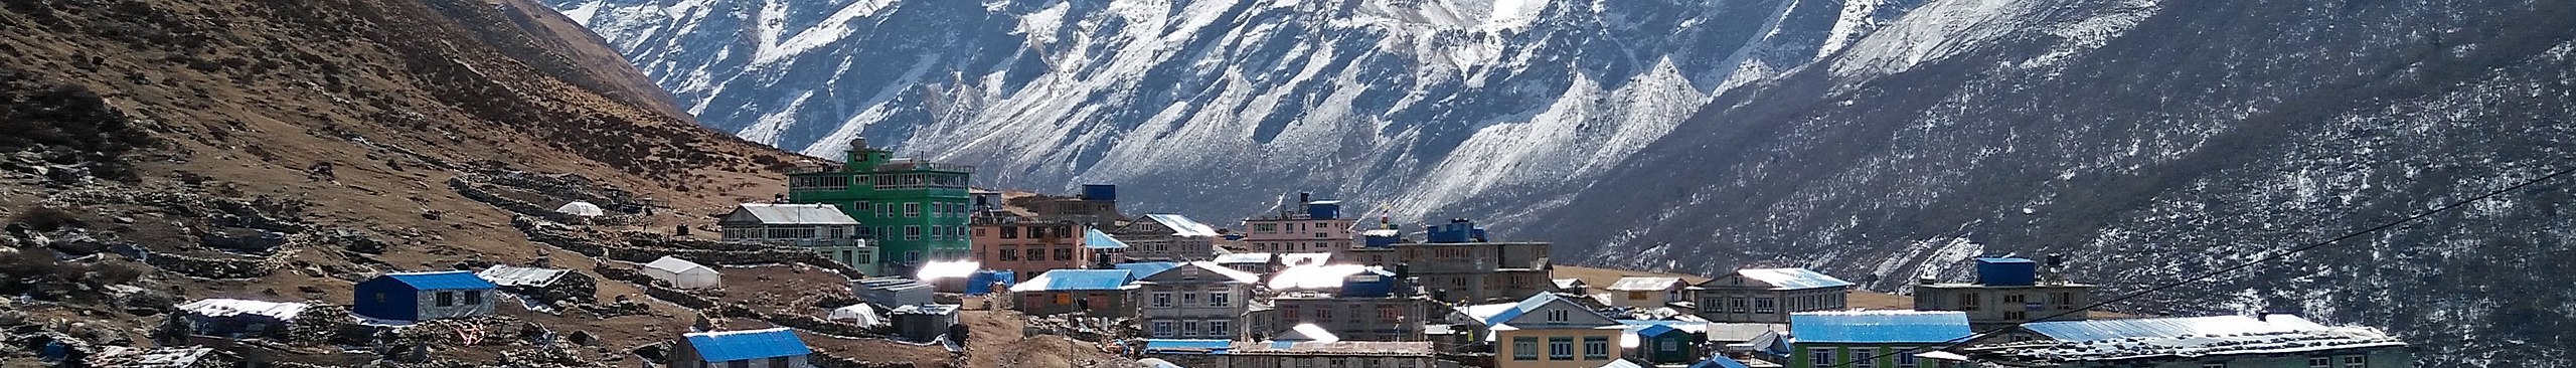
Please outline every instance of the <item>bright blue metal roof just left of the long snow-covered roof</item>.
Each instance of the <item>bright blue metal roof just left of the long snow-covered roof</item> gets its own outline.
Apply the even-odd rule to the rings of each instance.
[[[1968,337],[1963,311],[1806,311],[1788,317],[1790,342],[1950,342]]]

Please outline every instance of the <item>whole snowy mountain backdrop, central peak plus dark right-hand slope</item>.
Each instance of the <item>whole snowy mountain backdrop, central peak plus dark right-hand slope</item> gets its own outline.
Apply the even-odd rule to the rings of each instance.
[[[2571,167],[2566,3],[556,0],[703,124],[1229,219],[1324,190],[1561,260],[2133,291]],[[2568,365],[2576,183],[2154,293]]]

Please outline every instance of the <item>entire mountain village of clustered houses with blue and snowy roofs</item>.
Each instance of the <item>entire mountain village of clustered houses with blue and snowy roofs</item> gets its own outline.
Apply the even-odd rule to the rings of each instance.
[[[1625,273],[1551,262],[1548,242],[1512,242],[1471,219],[1401,226],[1309,193],[1242,221],[1128,216],[1115,185],[1074,196],[971,188],[974,167],[896,160],[853,144],[845,165],[809,162],[768,203],[739,203],[626,244],[592,226],[657,211],[649,198],[574,201],[580,180],[459,178],[451,185],[523,214],[515,226],[592,270],[459,262],[381,273],[350,301],[198,299],[178,304],[162,347],[49,340],[75,365],[265,365],[268,340],[335,340],[381,360],[438,360],[487,345],[587,345],[592,332],[510,317],[696,309],[688,332],[598,365],[873,368],[920,365],[832,355],[811,340],[938,345],[961,355],[963,314],[1023,319],[1103,355],[1077,365],[1146,368],[2411,368],[2406,342],[2370,327],[2298,314],[2128,317],[2092,311],[2102,291],[2063,257],[1973,257],[1968,281],[1917,281],[1911,301],[1855,291],[1806,268],[1713,275]],[[513,196],[510,188],[541,188]],[[551,211],[549,211],[551,208]],[[714,237],[714,239],[706,239]],[[832,286],[742,275],[793,265]],[[811,273],[809,273],[811,270]],[[734,283],[726,283],[726,281]],[[603,281],[641,296],[592,301]],[[848,288],[840,288],[848,286]],[[801,291],[799,314],[739,296]],[[1855,296],[1901,304],[1868,309]],[[1007,332],[1002,332],[1007,335]],[[350,342],[348,337],[355,337]],[[549,365],[502,358],[505,365]],[[554,358],[551,363],[590,360]],[[956,363],[951,363],[956,365]],[[1012,363],[1002,363],[1012,365]]]

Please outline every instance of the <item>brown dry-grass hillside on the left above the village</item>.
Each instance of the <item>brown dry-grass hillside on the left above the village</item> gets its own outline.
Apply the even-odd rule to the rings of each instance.
[[[994,337],[971,345],[974,358],[863,340],[881,332],[811,319],[848,304],[822,296],[848,278],[793,265],[809,252],[672,237],[783,190],[778,170],[804,157],[693,124],[538,3],[10,0],[0,129],[0,293],[13,296],[0,304],[0,360],[13,365],[46,342],[149,345],[191,299],[345,306],[376,273],[495,262],[598,283],[497,296],[518,304],[407,329],[394,350],[428,345],[433,358],[410,365],[634,365],[698,319],[827,329],[837,335],[809,335],[827,355],[920,365],[1069,345],[999,340],[1018,329],[1002,317],[971,317]],[[569,201],[611,214],[551,211]],[[626,270],[659,255],[760,268],[729,268],[726,293],[677,293]],[[353,319],[332,311],[345,309],[307,311],[268,342],[198,342],[286,365],[374,360],[340,347],[374,337],[335,335]],[[536,347],[536,329],[559,345]],[[1103,358],[1061,353],[1020,360]]]

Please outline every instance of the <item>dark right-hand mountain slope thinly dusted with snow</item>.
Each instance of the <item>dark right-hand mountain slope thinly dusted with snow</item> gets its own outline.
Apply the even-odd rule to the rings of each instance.
[[[1880,291],[2063,252],[2125,293],[2576,167],[2571,51],[2566,3],[1942,0],[1716,98],[1535,216],[1584,221],[1525,232],[1597,244],[1589,262],[1821,265]],[[2571,365],[2571,190],[2120,309],[2303,311],[2406,335],[2434,368]]]

